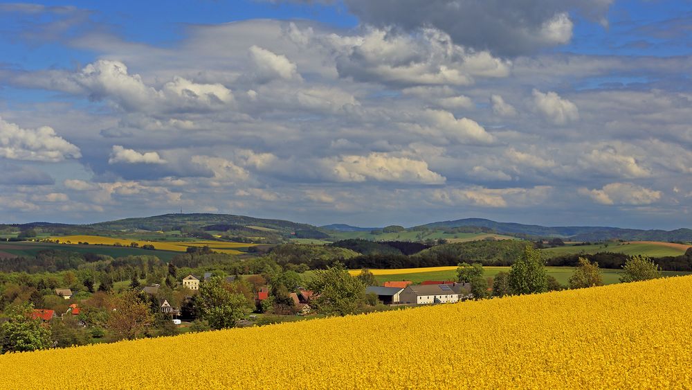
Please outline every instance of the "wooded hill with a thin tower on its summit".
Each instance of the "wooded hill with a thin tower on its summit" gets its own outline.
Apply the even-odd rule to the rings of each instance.
[[[127,218],[110,222],[99,222],[89,227],[100,230],[148,230],[170,231],[179,227],[203,228],[210,225],[255,226],[277,231],[307,231],[316,229],[309,224],[299,224],[284,220],[266,220],[263,218],[246,217],[244,215],[228,214],[165,214],[145,218]]]

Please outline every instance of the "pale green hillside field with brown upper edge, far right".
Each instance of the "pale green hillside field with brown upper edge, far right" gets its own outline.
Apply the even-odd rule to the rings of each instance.
[[[596,245],[566,245],[565,247],[555,247],[542,249],[546,258],[562,256],[566,254],[595,254],[598,252],[615,252],[626,255],[644,255],[650,257],[680,256],[685,253],[682,249],[666,247],[655,242],[609,244]]]

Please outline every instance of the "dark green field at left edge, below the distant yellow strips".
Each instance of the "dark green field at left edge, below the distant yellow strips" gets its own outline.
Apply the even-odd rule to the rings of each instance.
[[[21,249],[8,249],[16,247],[21,247]],[[150,251],[147,249],[140,248],[111,247],[107,245],[60,245],[51,244],[47,242],[0,242],[0,251],[7,252],[9,254],[17,256],[33,257],[36,256],[36,254],[39,251],[43,251],[46,249],[78,252],[80,254],[103,254],[111,256],[113,258],[140,255],[156,256],[164,261],[169,261],[173,258],[173,256],[176,255],[176,252],[172,251]]]

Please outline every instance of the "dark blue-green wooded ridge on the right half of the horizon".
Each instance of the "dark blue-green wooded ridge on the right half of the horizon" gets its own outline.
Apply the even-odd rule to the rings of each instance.
[[[641,230],[617,227],[544,227],[540,225],[495,222],[482,218],[432,222],[422,227],[428,229],[453,227],[487,227],[500,234],[521,234],[539,237],[563,237],[576,241],[642,240],[642,241],[692,241],[692,229]]]

